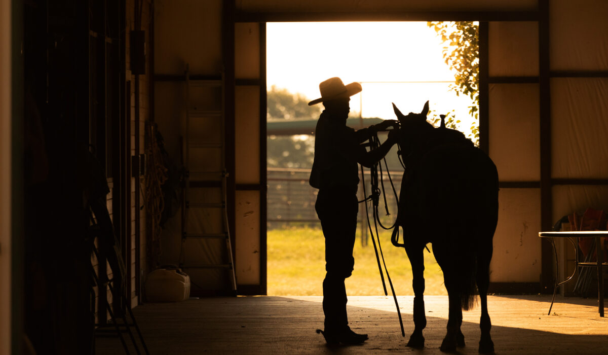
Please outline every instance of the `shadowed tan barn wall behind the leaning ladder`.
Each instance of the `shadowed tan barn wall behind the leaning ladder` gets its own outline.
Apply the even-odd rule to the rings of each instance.
[[[186,127],[186,111],[221,111],[223,86],[190,87],[184,74],[222,80],[226,71],[222,55],[222,1],[180,0],[155,1],[154,8],[154,74],[181,79],[155,80],[154,121],[165,140],[165,149],[174,166],[190,170],[190,180],[212,180],[209,174],[197,171],[223,169],[221,150],[216,147],[190,147],[184,161],[187,131],[190,142],[221,142],[221,118],[190,118]],[[230,130],[229,127],[227,127]],[[233,157],[227,157],[228,160]],[[232,175],[234,172],[230,172]],[[182,192],[175,191],[180,195]],[[224,200],[217,187],[190,188],[190,202],[219,203]],[[188,265],[224,264],[227,262],[226,244],[221,239],[187,238],[182,242],[182,208],[177,200],[171,203],[173,217],[163,226],[160,264],[183,264],[190,275],[192,294],[226,289],[228,273],[219,269],[199,269]],[[233,205],[233,201],[227,202]],[[187,233],[220,233],[224,217],[220,209],[188,208],[185,213]]]

